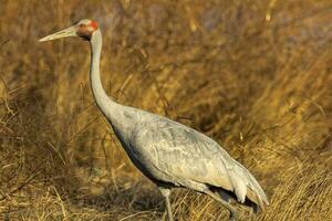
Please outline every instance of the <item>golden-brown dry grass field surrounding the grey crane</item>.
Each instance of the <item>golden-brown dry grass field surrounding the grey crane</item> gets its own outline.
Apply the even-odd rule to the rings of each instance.
[[[91,18],[116,101],[216,139],[266,190],[241,220],[332,220],[330,0],[1,0],[0,220],[164,220],[90,88],[90,46],[38,39]],[[227,220],[172,194],[178,221]]]

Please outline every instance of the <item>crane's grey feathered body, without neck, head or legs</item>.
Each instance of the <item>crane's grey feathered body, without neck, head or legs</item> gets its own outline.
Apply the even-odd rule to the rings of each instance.
[[[258,199],[248,196],[251,201],[267,200],[250,172],[206,135],[137,108],[120,108],[110,123],[134,165],[153,181],[200,192],[220,187],[235,192],[240,202],[255,191]]]

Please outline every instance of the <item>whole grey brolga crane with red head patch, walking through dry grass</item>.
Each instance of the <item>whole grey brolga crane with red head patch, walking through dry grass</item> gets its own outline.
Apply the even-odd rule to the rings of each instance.
[[[229,220],[238,220],[231,200],[253,209],[269,204],[255,177],[215,140],[166,117],[121,105],[106,95],[100,76],[102,33],[95,21],[81,20],[40,42],[68,36],[90,42],[90,78],[96,105],[133,164],[160,190],[169,221],[174,220],[169,194],[175,187],[210,196],[229,210]]]

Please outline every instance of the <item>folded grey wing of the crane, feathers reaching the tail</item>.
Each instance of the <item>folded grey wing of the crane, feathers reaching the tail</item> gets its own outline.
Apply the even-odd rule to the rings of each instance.
[[[221,187],[240,202],[248,197],[260,207],[268,204],[253,176],[215,140],[190,127],[158,118],[141,125],[131,140],[157,179],[185,187],[188,181]]]

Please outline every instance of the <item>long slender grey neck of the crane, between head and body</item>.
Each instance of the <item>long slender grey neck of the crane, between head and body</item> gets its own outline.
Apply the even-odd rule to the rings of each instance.
[[[115,103],[112,98],[107,96],[102,85],[101,75],[100,75],[100,60],[102,53],[102,33],[100,30],[93,32],[91,36],[91,70],[90,70],[90,81],[92,93],[94,99],[102,110],[102,113],[108,118],[115,118],[117,114],[117,109],[121,105]]]

